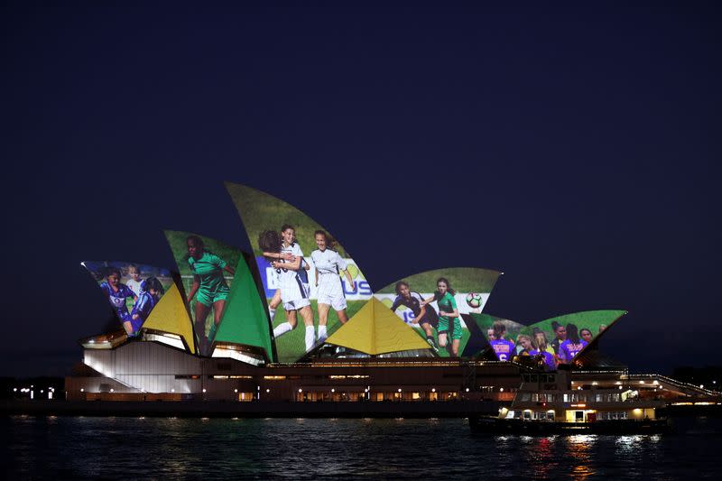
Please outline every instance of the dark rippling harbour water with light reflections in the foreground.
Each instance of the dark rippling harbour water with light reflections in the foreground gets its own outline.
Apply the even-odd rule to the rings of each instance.
[[[722,476],[719,436],[484,436],[466,420],[7,416],[6,478]]]

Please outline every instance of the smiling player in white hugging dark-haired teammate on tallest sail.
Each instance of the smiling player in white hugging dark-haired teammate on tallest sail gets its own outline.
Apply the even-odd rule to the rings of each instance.
[[[310,290],[308,282],[308,274],[303,260],[303,251],[301,245],[294,242],[295,229],[292,226],[284,225],[281,227],[281,236],[283,239],[281,245],[281,258],[273,261],[273,269],[278,275],[278,285],[281,290],[281,301],[283,302],[283,310],[286,311],[286,321],[282,322],[273,329],[273,337],[280,338],[286,332],[296,328],[296,313],[301,313],[303,324],[306,326],[306,351],[310,351],[316,342],[316,332],[313,328],[313,311],[310,309]],[[287,260],[288,255],[293,260]],[[305,282],[304,282],[305,281]]]

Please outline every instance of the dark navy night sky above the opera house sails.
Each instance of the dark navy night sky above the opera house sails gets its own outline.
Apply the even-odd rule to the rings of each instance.
[[[65,373],[102,330],[80,261],[173,268],[163,228],[248,248],[224,180],[372,287],[497,269],[488,313],[625,309],[602,348],[634,372],[719,364],[714,3],[66,5],[0,13],[0,375]]]

